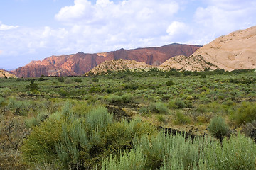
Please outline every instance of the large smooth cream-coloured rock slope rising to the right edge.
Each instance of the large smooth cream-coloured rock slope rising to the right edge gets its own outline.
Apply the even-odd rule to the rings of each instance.
[[[160,66],[162,69],[185,70],[204,69],[255,69],[256,68],[256,26],[221,36],[190,57],[172,57]]]

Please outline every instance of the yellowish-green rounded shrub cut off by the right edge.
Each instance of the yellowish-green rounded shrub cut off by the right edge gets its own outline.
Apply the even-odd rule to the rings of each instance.
[[[256,120],[256,103],[242,102],[231,118],[237,125],[245,125]]]

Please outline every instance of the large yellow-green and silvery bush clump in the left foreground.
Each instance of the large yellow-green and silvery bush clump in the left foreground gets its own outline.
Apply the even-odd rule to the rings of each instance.
[[[156,129],[141,120],[114,121],[103,107],[75,115],[65,104],[62,113],[33,128],[22,146],[27,164],[55,164],[56,169],[92,169],[110,154],[120,155],[132,149],[134,139],[142,134],[156,134]],[[51,130],[53,129],[53,130]],[[46,137],[45,137],[46,136]]]

